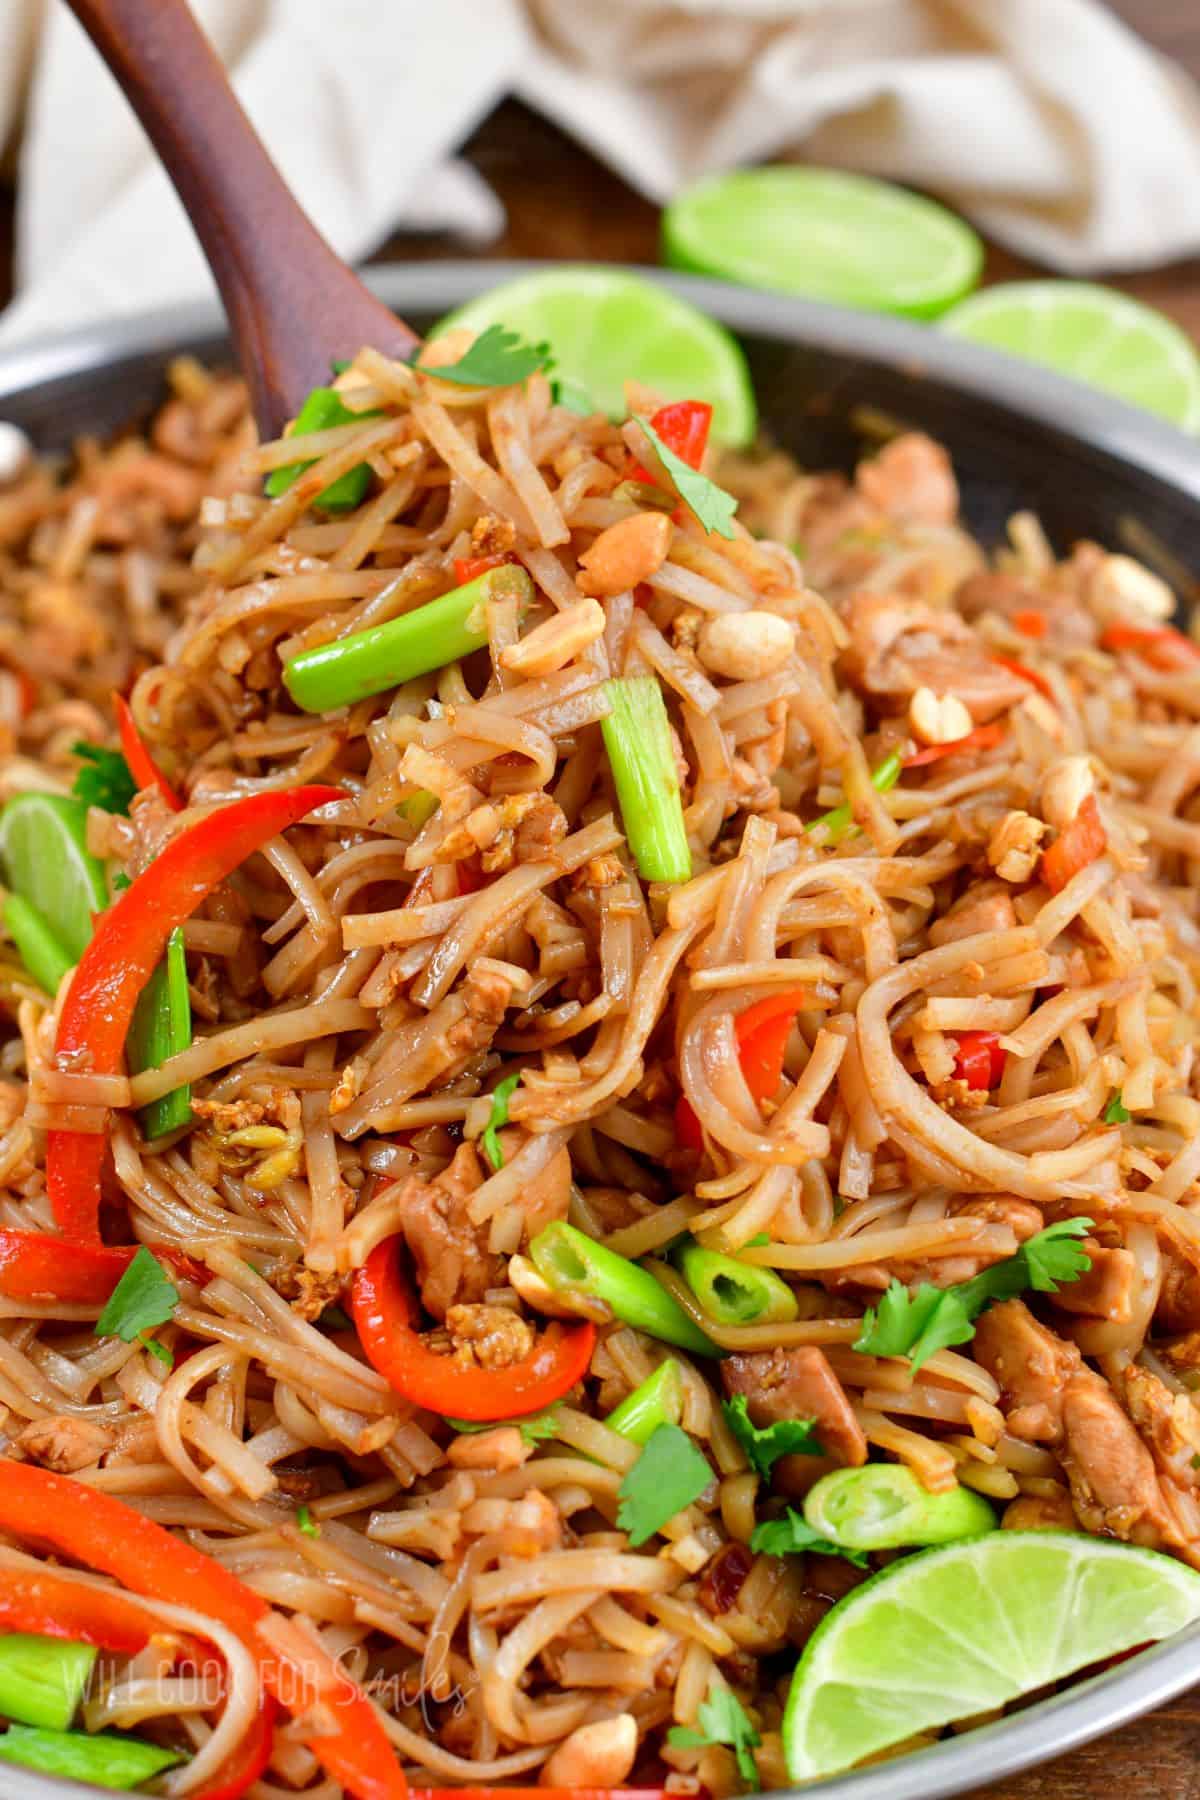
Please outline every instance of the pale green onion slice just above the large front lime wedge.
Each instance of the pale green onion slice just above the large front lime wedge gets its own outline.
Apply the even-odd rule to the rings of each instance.
[[[820,1537],[846,1550],[948,1544],[997,1528],[997,1516],[982,1494],[970,1487],[930,1494],[903,1463],[835,1469],[810,1489],[804,1519]]]

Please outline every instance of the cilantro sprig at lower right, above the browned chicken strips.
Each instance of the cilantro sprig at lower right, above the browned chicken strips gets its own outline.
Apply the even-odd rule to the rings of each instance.
[[[855,1350],[907,1355],[916,1375],[936,1350],[970,1343],[975,1319],[995,1301],[1013,1300],[1031,1287],[1052,1294],[1063,1282],[1078,1282],[1092,1267],[1092,1258],[1078,1244],[1090,1229],[1090,1219],[1060,1219],[1025,1238],[1015,1256],[954,1287],[921,1282],[910,1294],[903,1282],[892,1282],[878,1307],[867,1307]]]

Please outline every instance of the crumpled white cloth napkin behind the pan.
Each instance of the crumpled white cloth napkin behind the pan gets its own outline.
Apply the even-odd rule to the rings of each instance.
[[[1070,272],[1200,250],[1200,90],[1101,0],[194,0],[288,182],[347,257],[398,225],[486,243],[464,162],[516,94],[651,200],[801,155],[928,187]],[[59,0],[0,0],[25,117],[0,342],[210,292],[140,128]]]

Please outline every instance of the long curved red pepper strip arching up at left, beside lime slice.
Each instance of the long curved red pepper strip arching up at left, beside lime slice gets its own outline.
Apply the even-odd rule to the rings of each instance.
[[[340,788],[317,785],[252,794],[171,839],[95,922],[59,1012],[58,1067],[115,1075],[137,997],[175,927],[252,851],[333,799],[342,799]],[[99,1238],[104,1148],[103,1132],[52,1130],[47,1138],[47,1193],[68,1237]]]

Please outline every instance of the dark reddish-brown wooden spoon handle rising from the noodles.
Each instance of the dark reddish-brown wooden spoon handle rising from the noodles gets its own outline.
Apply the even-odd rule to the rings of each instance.
[[[336,356],[419,338],[297,205],[185,0],[68,0],[175,182],[209,259],[263,437]]]

